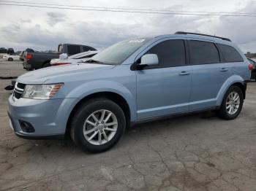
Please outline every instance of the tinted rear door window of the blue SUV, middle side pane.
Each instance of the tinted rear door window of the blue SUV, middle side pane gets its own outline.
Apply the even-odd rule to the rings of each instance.
[[[219,63],[219,52],[214,43],[189,41],[192,64]]]

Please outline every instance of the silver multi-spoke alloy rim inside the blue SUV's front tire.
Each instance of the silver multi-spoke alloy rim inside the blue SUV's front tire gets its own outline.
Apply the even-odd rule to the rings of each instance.
[[[100,109],[87,117],[83,124],[83,136],[90,144],[102,145],[113,139],[117,128],[116,115],[107,109]]]

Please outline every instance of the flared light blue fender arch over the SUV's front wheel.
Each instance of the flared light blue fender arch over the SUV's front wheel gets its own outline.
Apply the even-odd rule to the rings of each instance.
[[[76,101],[78,102],[85,98],[88,95],[93,93],[100,93],[100,92],[111,92],[117,93],[121,95],[129,106],[130,114],[131,114],[131,121],[137,119],[137,107],[136,107],[136,87],[135,85],[130,85],[130,87],[125,87],[121,83],[108,81],[108,80],[98,80],[93,82],[86,82],[78,87],[75,87],[71,92],[67,94],[67,98],[77,98]],[[76,105],[75,104],[75,105]]]

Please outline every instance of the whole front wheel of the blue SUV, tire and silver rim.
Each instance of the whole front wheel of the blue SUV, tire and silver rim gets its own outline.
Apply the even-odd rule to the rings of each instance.
[[[102,152],[121,139],[125,126],[120,106],[106,98],[97,98],[78,108],[72,118],[70,133],[81,149]]]

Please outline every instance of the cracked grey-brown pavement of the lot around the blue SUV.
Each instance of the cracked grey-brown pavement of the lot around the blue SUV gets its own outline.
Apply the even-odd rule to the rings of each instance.
[[[0,76],[23,74],[0,61]],[[80,151],[69,139],[31,141],[9,127],[0,79],[0,190],[256,190],[256,83],[236,120],[203,113],[129,128],[113,149]]]

